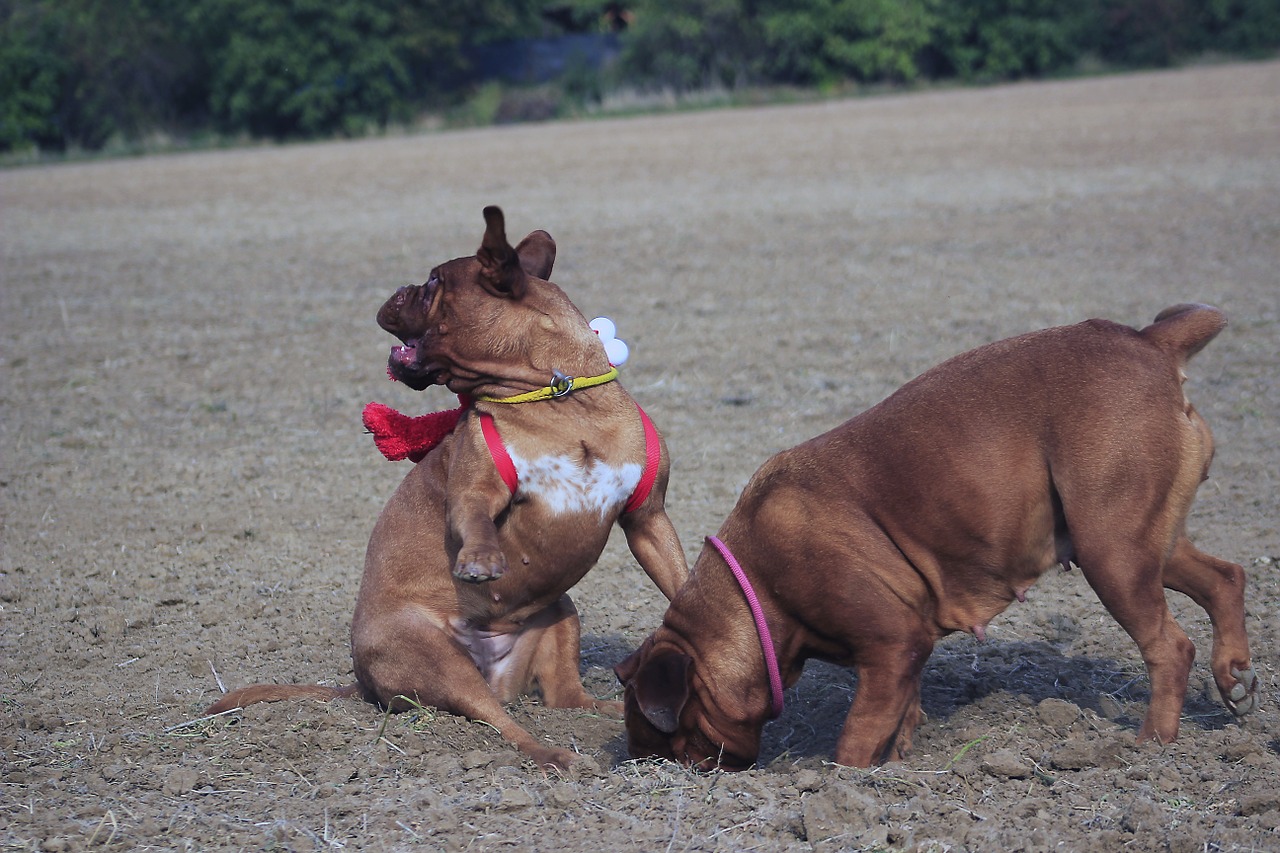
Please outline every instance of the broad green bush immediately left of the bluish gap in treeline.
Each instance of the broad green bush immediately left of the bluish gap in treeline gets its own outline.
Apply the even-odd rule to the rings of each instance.
[[[456,93],[463,47],[541,26],[534,0],[201,0],[188,14],[229,132],[360,133]]]

